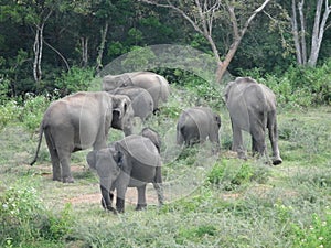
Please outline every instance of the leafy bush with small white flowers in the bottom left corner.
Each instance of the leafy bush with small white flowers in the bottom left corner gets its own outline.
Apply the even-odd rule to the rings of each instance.
[[[0,194],[1,247],[18,247],[36,240],[64,240],[72,231],[71,204],[60,214],[46,209],[34,186],[20,180]]]

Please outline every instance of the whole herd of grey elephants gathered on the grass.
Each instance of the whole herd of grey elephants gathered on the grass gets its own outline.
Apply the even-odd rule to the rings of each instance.
[[[132,134],[132,119],[142,121],[170,96],[168,80],[150,72],[107,75],[102,91],[81,91],[50,105],[40,126],[34,160],[43,133],[50,151],[53,180],[73,183],[71,153],[93,148],[87,163],[99,176],[102,205],[120,213],[125,209],[127,187],[137,187],[137,209],[146,207],[146,186],[152,183],[159,204],[163,203],[161,175],[161,139],[150,128]],[[252,136],[254,153],[267,158],[265,132],[268,129],[273,148],[273,164],[282,162],[278,149],[276,97],[266,86],[249,77],[238,77],[227,84],[225,101],[233,130],[233,147],[238,158],[246,159],[242,130]],[[182,111],[177,123],[178,145],[211,141],[213,152],[220,151],[221,117],[209,107],[192,107]],[[107,145],[109,129],[119,129],[125,138]],[[116,191],[116,208],[113,207]]]

